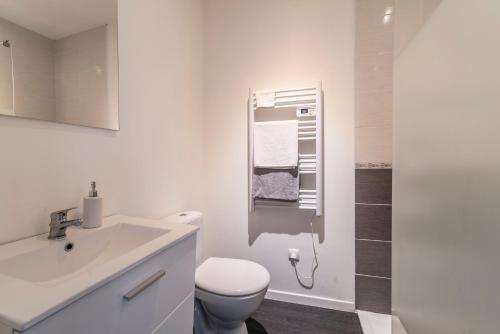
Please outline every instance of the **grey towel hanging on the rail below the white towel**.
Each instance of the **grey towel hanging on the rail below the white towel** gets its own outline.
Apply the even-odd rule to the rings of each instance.
[[[299,199],[298,169],[254,168],[253,198],[296,201]]]

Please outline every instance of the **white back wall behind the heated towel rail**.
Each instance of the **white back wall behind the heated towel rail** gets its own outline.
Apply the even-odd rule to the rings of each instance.
[[[210,0],[205,2],[205,32],[208,254],[263,264],[271,272],[270,288],[284,292],[274,297],[352,309],[353,1]],[[325,214],[324,221],[315,223],[320,267],[315,287],[307,290],[297,283],[287,249],[300,248],[299,268],[309,275],[309,213],[271,209],[249,221],[247,99],[249,88],[300,87],[318,80],[325,93]]]

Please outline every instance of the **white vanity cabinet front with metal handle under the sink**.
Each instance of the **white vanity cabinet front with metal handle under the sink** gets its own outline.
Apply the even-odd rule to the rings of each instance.
[[[193,234],[22,333],[192,334],[195,256]]]

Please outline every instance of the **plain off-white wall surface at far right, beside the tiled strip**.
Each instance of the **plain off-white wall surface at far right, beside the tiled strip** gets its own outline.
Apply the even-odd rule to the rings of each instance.
[[[411,334],[500,327],[498,13],[443,0],[395,62],[393,307]]]

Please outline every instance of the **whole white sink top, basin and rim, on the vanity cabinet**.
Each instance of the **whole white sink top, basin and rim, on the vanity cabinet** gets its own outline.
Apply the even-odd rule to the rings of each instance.
[[[2,324],[33,326],[197,230],[116,215],[99,228],[70,227],[65,240],[43,234],[0,245],[0,333]]]

